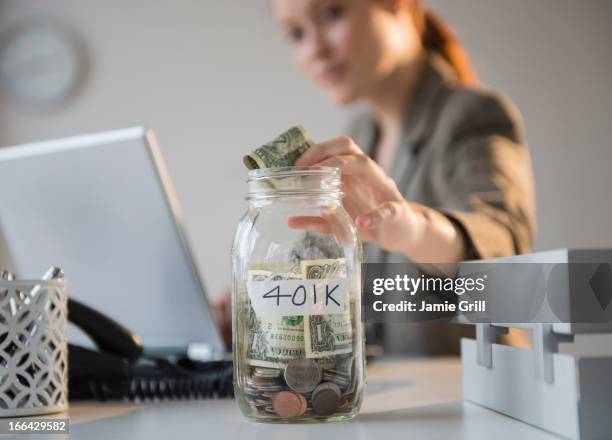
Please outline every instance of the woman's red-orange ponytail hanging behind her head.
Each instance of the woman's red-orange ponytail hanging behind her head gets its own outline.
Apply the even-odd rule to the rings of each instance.
[[[425,50],[441,56],[451,66],[460,83],[475,85],[478,82],[476,70],[450,26],[426,8],[421,0],[413,1],[412,7]]]

